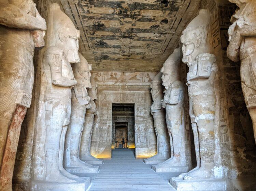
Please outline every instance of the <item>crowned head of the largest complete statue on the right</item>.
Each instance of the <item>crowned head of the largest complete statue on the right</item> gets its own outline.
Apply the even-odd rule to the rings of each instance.
[[[188,67],[196,59],[197,55],[209,53],[207,36],[209,31],[210,16],[208,10],[201,9],[182,32],[181,43],[183,58],[182,62]]]

